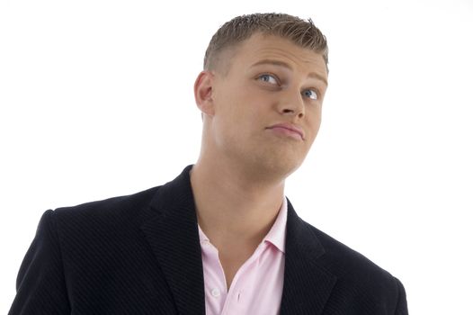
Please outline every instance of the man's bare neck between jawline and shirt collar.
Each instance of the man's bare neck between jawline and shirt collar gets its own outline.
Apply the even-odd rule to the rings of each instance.
[[[284,198],[284,180],[256,180],[236,167],[200,159],[191,171],[197,218],[210,241],[257,246],[272,227]]]

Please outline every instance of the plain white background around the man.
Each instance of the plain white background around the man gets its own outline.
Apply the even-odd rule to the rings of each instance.
[[[473,1],[0,2],[0,313],[43,211],[196,161],[192,92],[239,14],[312,18],[330,48],[299,215],[401,279],[412,314],[473,314]]]

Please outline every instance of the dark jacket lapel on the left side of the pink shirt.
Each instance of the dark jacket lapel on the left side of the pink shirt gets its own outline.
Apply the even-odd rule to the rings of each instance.
[[[151,202],[156,215],[141,229],[165,274],[181,314],[205,314],[201,244],[187,166],[157,190]]]

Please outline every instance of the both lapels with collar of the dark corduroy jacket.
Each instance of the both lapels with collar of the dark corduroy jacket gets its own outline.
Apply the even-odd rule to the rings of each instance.
[[[152,218],[142,225],[165,274],[179,313],[205,314],[201,244],[189,172],[161,186],[150,203]],[[313,228],[288,201],[281,314],[321,314],[335,275],[317,264],[324,255]]]

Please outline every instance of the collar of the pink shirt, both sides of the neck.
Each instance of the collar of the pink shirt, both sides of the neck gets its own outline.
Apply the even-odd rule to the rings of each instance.
[[[272,245],[277,247],[283,254],[286,252],[286,222],[288,220],[288,201],[286,197],[283,198],[280,211],[276,220],[272,224],[272,228],[263,238],[264,242],[270,242]],[[210,242],[210,239],[202,231],[201,226],[199,227],[199,238],[201,243]]]

